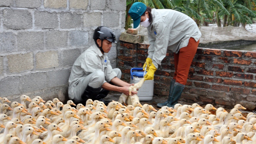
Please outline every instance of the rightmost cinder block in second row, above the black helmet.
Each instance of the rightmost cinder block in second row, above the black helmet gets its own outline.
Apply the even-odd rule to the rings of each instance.
[[[104,12],[103,25],[107,27],[119,26],[119,14],[114,12]]]

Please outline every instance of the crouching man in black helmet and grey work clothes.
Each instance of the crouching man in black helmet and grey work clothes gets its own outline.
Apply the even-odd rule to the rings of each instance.
[[[94,31],[93,39],[95,44],[84,51],[72,66],[68,80],[68,96],[75,103],[85,104],[90,98],[107,105],[109,101],[103,98],[110,90],[128,95],[128,88],[132,84],[120,80],[121,70],[112,69],[108,60],[107,53],[112,47],[112,42],[116,41],[114,32],[108,27],[99,26]]]

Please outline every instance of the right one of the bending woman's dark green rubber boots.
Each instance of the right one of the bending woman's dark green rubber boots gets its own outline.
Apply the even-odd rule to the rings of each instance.
[[[184,90],[184,87],[185,85],[175,82],[174,88],[172,90],[172,94],[170,96],[171,100],[168,101],[168,104],[166,106],[174,107],[174,105],[178,103],[178,100],[180,99],[180,96],[182,91]]]

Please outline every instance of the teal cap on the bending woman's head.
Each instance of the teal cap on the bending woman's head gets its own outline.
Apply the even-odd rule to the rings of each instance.
[[[147,6],[142,2],[134,2],[134,4],[132,4],[128,13],[133,19],[133,28],[137,28],[139,26],[140,17],[144,14],[146,8]]]

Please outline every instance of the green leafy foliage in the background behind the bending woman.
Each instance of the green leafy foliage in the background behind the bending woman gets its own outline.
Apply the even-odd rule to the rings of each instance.
[[[193,18],[198,26],[223,19],[223,26],[252,24],[256,18],[256,0],[126,0],[126,29],[130,27],[128,10],[134,2],[142,2],[151,8],[167,8]]]

